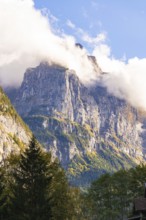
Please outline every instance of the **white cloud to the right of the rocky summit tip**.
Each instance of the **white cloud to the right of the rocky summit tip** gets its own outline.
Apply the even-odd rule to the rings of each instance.
[[[132,106],[146,110],[146,58],[118,60],[111,49],[101,44],[94,48],[93,55],[103,72],[102,85],[116,97],[127,100]]]

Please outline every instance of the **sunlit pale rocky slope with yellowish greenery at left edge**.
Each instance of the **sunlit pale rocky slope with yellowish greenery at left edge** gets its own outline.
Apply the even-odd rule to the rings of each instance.
[[[0,88],[0,161],[23,150],[31,132]]]

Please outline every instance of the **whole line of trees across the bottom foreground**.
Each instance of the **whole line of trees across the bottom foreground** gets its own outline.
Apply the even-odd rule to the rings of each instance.
[[[104,174],[81,191],[32,137],[0,166],[0,220],[125,220],[143,197],[146,165]]]

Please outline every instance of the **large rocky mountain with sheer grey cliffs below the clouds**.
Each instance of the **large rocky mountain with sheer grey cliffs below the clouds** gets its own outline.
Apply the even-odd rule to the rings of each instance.
[[[86,87],[74,71],[41,63],[8,95],[72,183],[145,160],[143,114],[100,85]]]

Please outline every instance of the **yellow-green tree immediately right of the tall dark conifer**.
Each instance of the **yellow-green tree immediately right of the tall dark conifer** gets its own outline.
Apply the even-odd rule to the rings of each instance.
[[[51,210],[52,220],[76,220],[77,203],[73,189],[69,186],[65,171],[57,161],[52,164]]]

